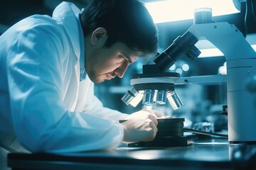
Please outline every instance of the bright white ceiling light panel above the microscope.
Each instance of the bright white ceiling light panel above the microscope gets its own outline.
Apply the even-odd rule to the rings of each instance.
[[[212,8],[213,16],[239,13],[233,0],[166,0],[146,3],[154,23],[181,21],[193,18],[196,8]]]

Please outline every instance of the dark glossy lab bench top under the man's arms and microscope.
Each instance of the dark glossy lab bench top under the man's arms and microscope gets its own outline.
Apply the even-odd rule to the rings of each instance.
[[[68,154],[9,153],[8,165],[13,170],[240,169],[246,165],[240,147],[223,138],[210,138],[195,140],[186,147],[118,147],[111,151]]]

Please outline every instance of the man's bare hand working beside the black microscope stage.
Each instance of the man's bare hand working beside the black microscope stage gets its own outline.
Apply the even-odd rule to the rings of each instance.
[[[138,111],[127,117],[122,123],[124,128],[123,142],[151,141],[156,137],[158,113],[154,111]]]

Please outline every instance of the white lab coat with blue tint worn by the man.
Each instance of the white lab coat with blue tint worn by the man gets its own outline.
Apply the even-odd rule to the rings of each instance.
[[[31,152],[80,152],[122,142],[127,114],[104,108],[87,75],[80,81],[78,13],[63,2],[53,18],[31,16],[1,35],[0,144],[16,137]]]

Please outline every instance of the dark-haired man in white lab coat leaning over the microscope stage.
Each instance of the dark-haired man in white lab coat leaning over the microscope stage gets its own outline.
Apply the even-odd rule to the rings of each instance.
[[[93,86],[122,78],[138,57],[154,55],[157,43],[137,0],[95,0],[82,12],[63,2],[53,17],[16,23],[0,37],[1,145],[80,152],[154,140],[159,113],[104,108]]]

